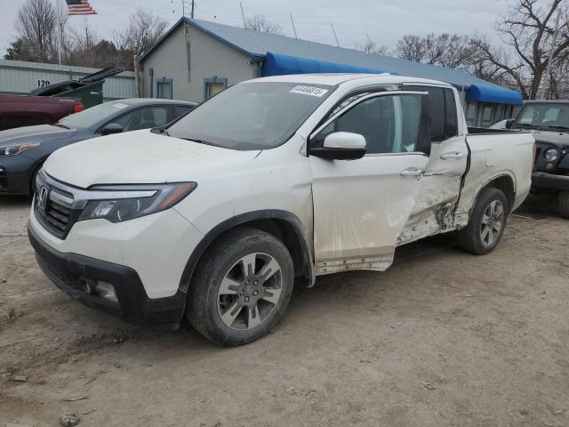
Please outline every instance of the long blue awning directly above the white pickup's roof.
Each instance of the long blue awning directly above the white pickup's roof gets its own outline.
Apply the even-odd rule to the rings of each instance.
[[[377,68],[357,67],[349,64],[337,64],[327,60],[309,60],[298,56],[268,52],[263,65],[263,77],[283,76],[287,74],[308,73],[371,73],[385,71]],[[393,73],[392,73],[393,74]]]

